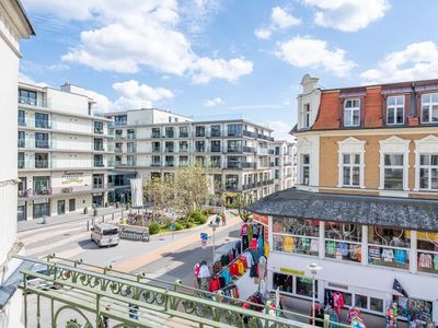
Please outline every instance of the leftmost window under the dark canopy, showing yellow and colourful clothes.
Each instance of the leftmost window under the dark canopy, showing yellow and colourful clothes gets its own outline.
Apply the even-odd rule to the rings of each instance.
[[[318,256],[319,221],[277,216],[273,224],[275,250]]]

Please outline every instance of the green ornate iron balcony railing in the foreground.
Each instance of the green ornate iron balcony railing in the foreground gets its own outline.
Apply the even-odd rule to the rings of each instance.
[[[26,328],[101,328],[105,327],[106,320],[111,320],[114,328],[310,327],[269,315],[268,304],[263,312],[245,309],[223,303],[224,300],[237,304],[242,301],[224,297],[221,293],[199,294],[198,290],[182,285],[180,281],[170,283],[148,278],[145,273],[125,273],[111,267],[55,256],[45,259],[16,257],[46,269],[21,271]],[[44,309],[43,300],[46,302]],[[32,313],[31,304],[36,313]],[[308,319],[303,315],[293,315]],[[31,323],[31,319],[36,323]],[[324,324],[328,325],[328,321]]]

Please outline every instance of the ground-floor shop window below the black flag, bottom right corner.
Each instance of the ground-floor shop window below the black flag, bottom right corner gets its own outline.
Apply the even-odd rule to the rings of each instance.
[[[393,296],[399,307],[399,317],[406,318],[408,321],[420,321],[427,324],[431,320],[433,303],[416,298]]]

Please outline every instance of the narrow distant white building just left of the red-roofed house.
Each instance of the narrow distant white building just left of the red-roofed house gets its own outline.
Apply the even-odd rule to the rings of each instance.
[[[274,191],[295,186],[297,179],[296,141],[276,140],[274,142]]]

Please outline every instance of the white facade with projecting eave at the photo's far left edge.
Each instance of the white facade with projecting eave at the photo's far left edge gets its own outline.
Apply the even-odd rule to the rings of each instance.
[[[22,263],[13,258],[24,254],[16,238],[16,83],[19,42],[31,35],[34,31],[20,1],[0,0],[0,327],[22,327],[22,293],[14,283]]]

